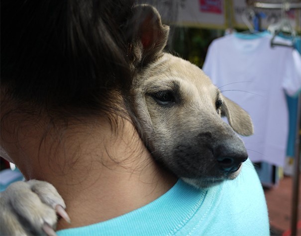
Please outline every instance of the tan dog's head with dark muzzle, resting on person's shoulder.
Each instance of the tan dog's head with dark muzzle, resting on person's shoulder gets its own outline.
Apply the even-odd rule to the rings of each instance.
[[[169,28],[156,9],[135,10],[141,29],[131,44],[136,53],[132,109],[145,145],[157,161],[199,187],[235,178],[248,157],[236,133],[253,133],[250,116],[197,66],[163,53]]]

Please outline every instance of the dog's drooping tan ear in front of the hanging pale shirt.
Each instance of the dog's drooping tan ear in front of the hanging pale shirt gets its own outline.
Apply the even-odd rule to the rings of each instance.
[[[244,136],[252,135],[253,123],[249,114],[235,102],[222,96],[221,115],[226,116],[233,130]]]

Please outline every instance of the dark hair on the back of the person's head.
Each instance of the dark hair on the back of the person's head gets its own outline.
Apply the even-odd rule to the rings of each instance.
[[[132,82],[132,0],[2,0],[1,92],[73,115],[109,113]],[[4,90],[3,90],[4,89]]]

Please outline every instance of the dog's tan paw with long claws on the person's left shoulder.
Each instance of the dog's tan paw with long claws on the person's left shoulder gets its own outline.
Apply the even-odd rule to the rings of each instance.
[[[15,182],[0,193],[0,235],[56,235],[57,215],[70,222],[54,186],[38,180]]]

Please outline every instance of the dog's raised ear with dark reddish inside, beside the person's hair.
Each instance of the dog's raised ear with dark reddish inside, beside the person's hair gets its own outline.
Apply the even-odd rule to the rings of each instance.
[[[128,22],[127,33],[131,33],[129,54],[134,65],[145,66],[158,58],[167,44],[169,26],[163,25],[156,8],[137,5]]]

